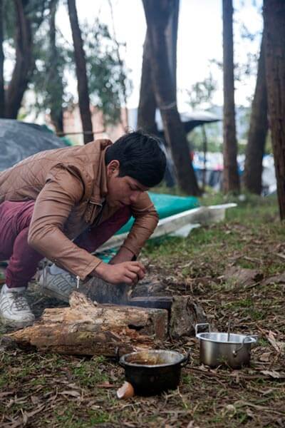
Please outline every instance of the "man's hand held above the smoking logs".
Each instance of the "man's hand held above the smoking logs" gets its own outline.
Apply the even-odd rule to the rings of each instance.
[[[140,262],[123,262],[117,265],[102,262],[93,270],[91,275],[99,276],[111,284],[125,282],[135,285],[138,280],[142,280],[145,276],[145,267]]]

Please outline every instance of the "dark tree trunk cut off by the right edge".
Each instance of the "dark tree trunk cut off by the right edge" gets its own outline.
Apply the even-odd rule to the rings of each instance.
[[[285,3],[264,0],[265,67],[269,126],[281,219],[285,218]]]

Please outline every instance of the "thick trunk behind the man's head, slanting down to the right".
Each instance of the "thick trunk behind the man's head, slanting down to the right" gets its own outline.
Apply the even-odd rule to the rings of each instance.
[[[180,187],[189,195],[199,195],[190,160],[185,130],[177,111],[176,91],[167,56],[165,30],[177,0],[143,0],[150,41],[150,66],[155,100],[160,108],[165,140],[172,151]]]

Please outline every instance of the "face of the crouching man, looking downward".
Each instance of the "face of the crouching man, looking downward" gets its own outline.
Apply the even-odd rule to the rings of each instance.
[[[107,165],[108,195],[106,200],[110,206],[123,207],[135,203],[142,192],[148,190],[135,178],[125,175],[119,177],[120,162],[111,161]]]

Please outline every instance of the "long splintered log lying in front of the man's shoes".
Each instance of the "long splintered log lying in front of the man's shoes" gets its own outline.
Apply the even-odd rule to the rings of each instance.
[[[73,292],[70,307],[46,309],[31,327],[9,334],[21,347],[70,355],[115,357],[155,347],[167,335],[167,311],[98,305]]]

